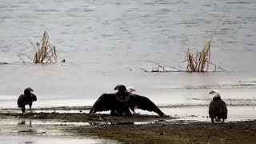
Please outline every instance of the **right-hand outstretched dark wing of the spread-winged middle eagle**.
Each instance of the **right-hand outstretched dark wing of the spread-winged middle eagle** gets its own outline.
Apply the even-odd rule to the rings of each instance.
[[[158,106],[154,104],[154,102],[150,101],[149,98],[146,98],[138,94],[130,94],[128,105],[130,109],[133,111],[134,111],[134,107],[137,107],[138,109],[142,109],[142,110],[154,111],[161,117],[166,117],[166,114],[164,114],[162,110],[160,110]]]

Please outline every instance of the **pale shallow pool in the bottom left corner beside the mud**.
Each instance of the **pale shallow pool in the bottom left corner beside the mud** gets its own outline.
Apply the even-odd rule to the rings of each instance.
[[[62,122],[30,118],[1,118],[0,143],[117,143],[115,141],[71,134],[67,128],[89,126],[89,122]]]

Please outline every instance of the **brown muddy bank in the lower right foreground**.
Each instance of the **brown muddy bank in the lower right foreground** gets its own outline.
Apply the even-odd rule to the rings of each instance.
[[[147,125],[97,126],[71,128],[80,135],[97,135],[124,143],[255,143],[256,121],[212,124],[206,122],[168,123]]]

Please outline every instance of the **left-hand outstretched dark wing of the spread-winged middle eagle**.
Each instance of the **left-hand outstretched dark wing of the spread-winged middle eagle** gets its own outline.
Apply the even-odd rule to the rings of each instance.
[[[89,114],[94,114],[97,111],[111,110],[116,101],[116,94],[102,94],[90,109]]]

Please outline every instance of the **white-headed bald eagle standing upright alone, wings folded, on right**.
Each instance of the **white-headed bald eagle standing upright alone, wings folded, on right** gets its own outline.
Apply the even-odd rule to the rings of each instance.
[[[214,98],[210,102],[209,106],[211,122],[214,123],[214,118],[216,118],[216,120],[221,120],[222,118],[222,122],[224,122],[224,120],[227,118],[226,103],[222,101],[222,98],[217,90],[210,91],[210,94],[214,95]]]

